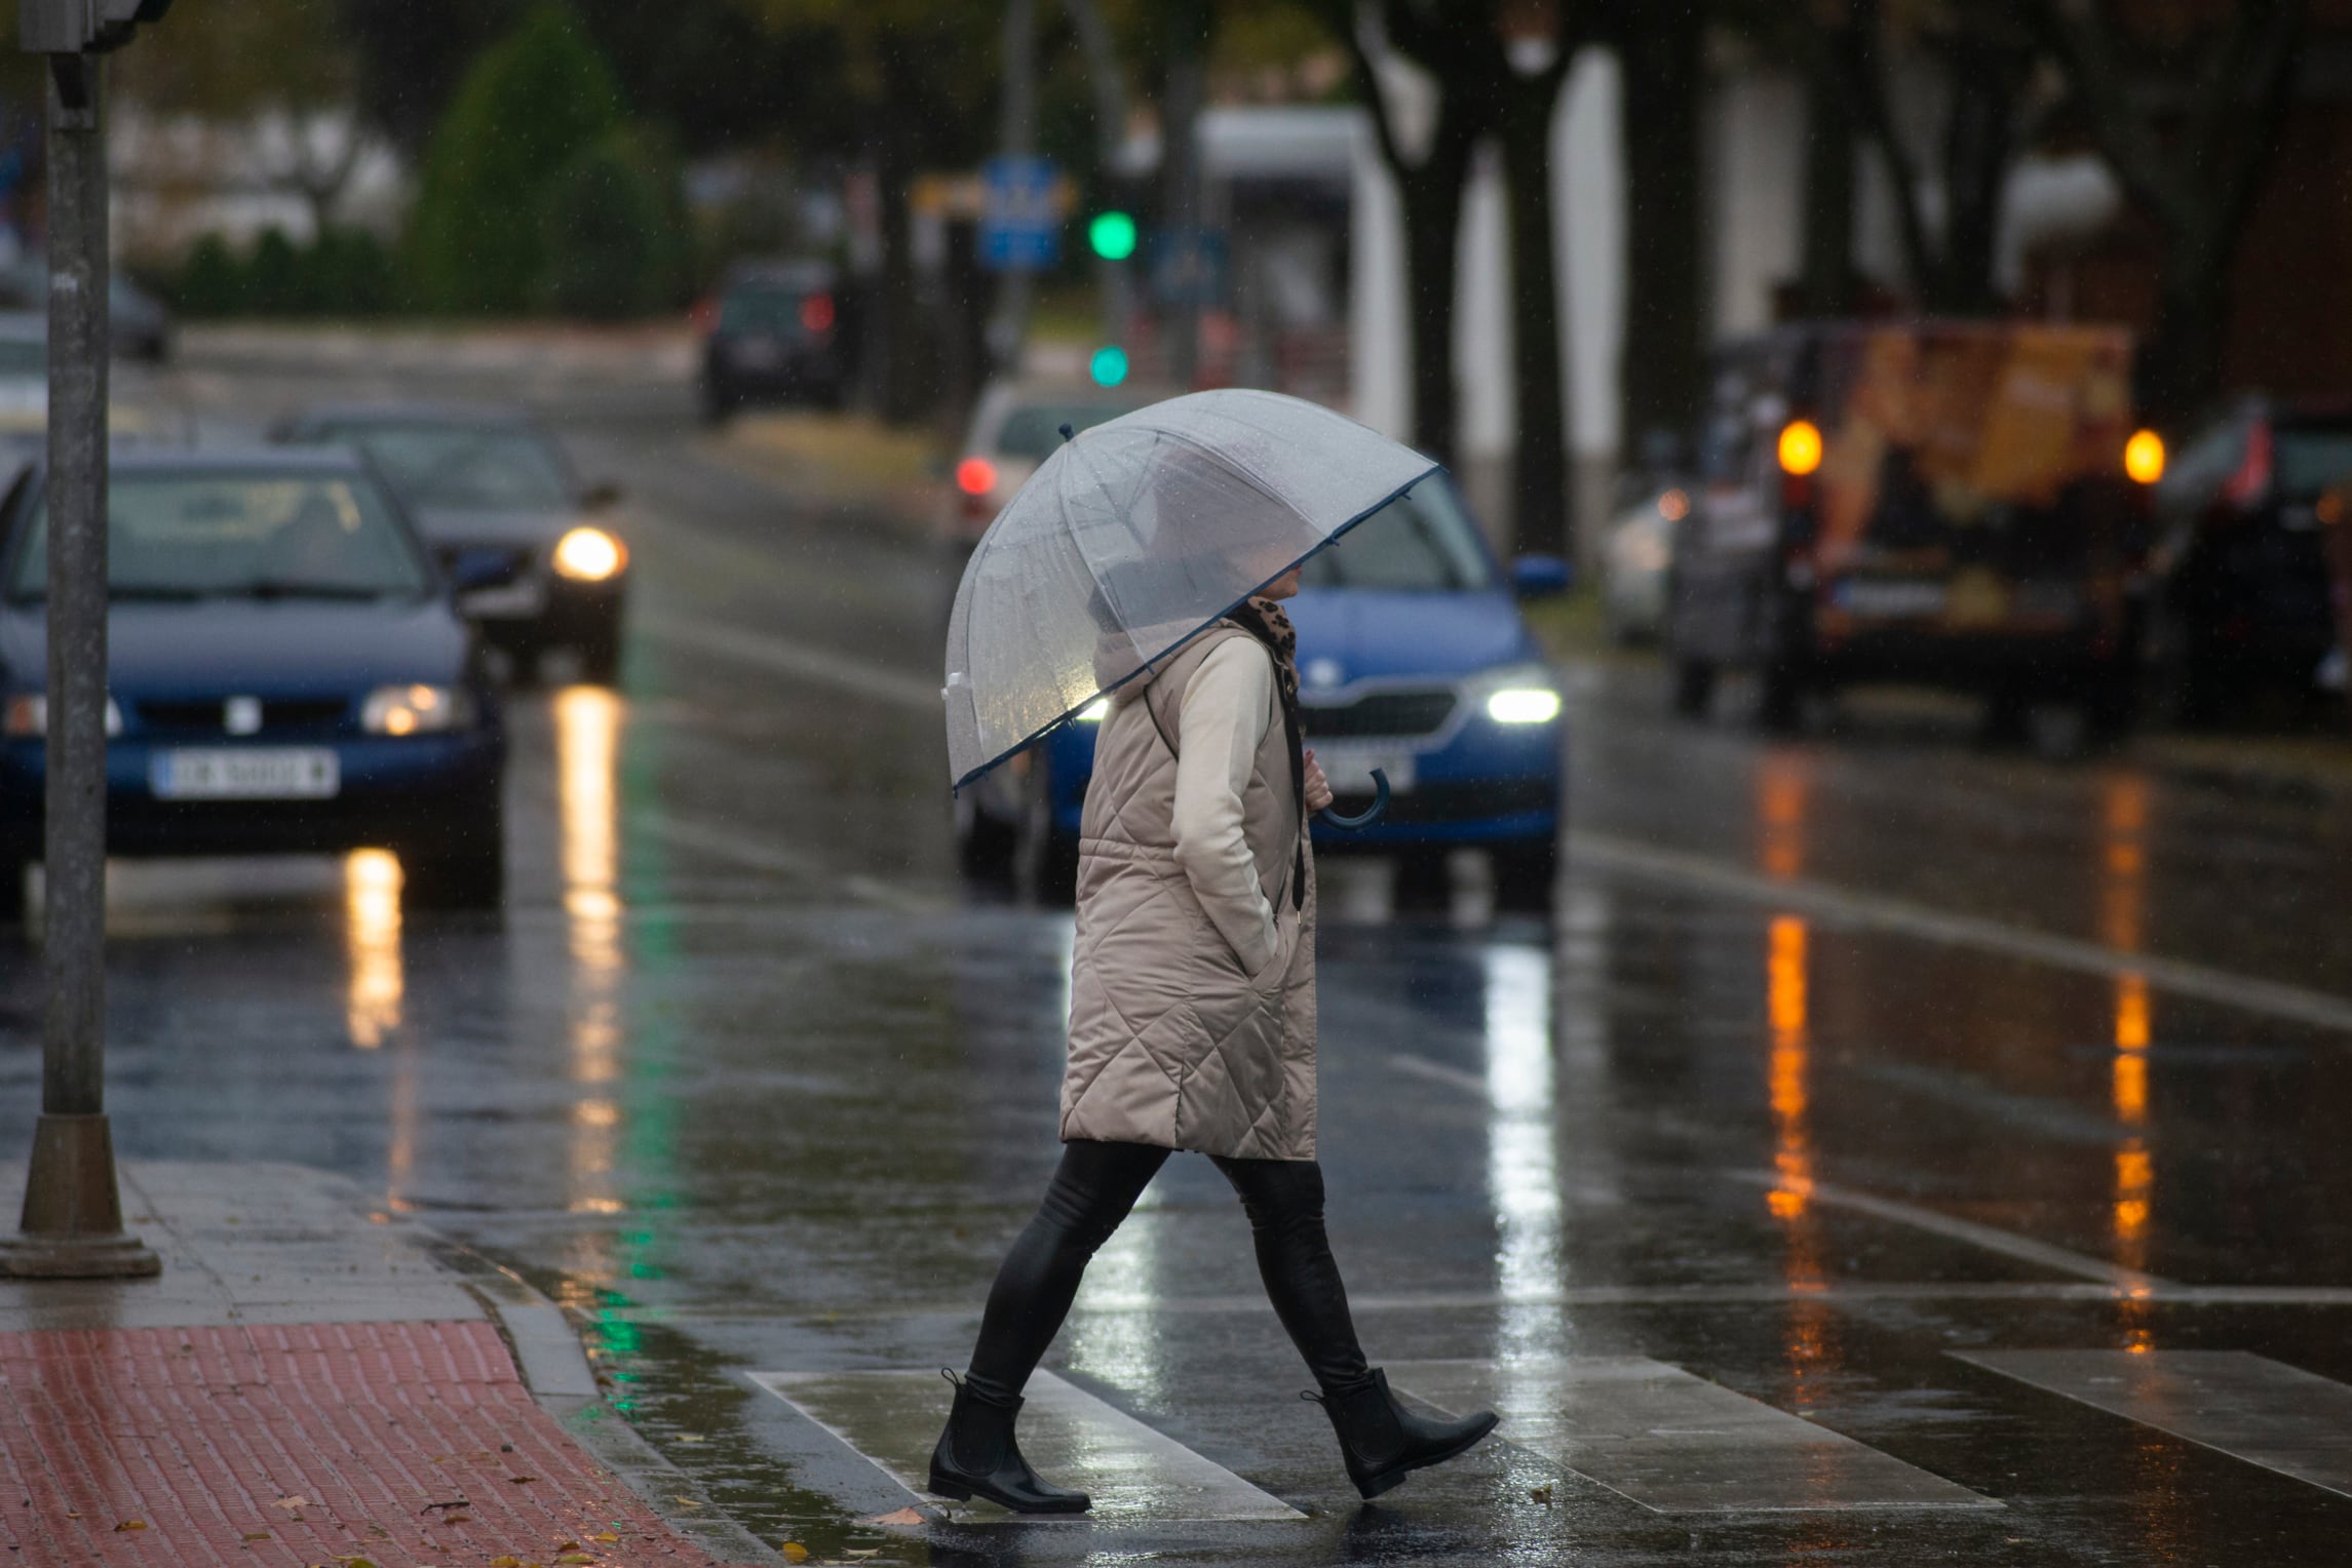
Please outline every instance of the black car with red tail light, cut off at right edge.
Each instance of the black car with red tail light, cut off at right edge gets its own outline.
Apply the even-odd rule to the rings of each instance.
[[[2321,508],[2352,480],[2352,407],[2249,397],[2157,484],[2152,656],[2173,717],[2307,696],[2338,642]]]

